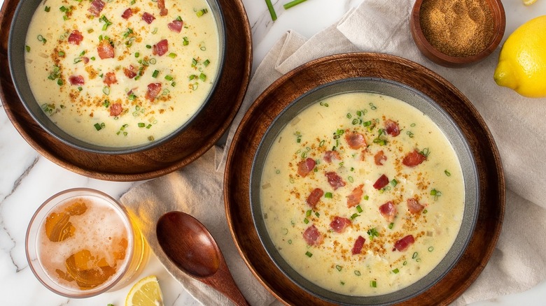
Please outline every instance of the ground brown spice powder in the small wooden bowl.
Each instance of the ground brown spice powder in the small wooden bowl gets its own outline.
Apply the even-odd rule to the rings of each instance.
[[[478,54],[493,39],[486,0],[425,0],[419,22],[430,45],[451,57]]]

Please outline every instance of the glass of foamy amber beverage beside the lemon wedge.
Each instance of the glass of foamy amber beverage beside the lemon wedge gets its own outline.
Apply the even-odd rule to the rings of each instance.
[[[45,201],[30,221],[26,243],[38,280],[71,298],[122,288],[148,259],[125,208],[94,189],[69,189]]]

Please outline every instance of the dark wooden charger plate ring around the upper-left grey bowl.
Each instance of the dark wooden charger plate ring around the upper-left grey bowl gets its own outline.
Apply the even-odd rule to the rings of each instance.
[[[241,0],[218,0],[225,24],[225,66],[207,108],[169,143],[130,154],[97,154],[71,147],[41,129],[22,105],[8,68],[8,36],[20,0],[0,10],[0,99],[8,118],[27,143],[47,159],[99,180],[137,181],[171,173],[207,152],[229,128],[246,94],[252,66],[252,38]],[[235,59],[235,60],[234,60]]]

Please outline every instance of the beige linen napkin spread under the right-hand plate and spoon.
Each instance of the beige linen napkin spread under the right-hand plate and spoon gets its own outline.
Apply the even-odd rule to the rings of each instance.
[[[202,158],[176,173],[135,187],[121,201],[143,220],[144,235],[160,261],[204,305],[226,302],[166,260],[157,246],[155,221],[162,212],[183,210],[213,232],[246,298],[253,305],[268,305],[273,298],[244,266],[229,236],[222,202],[225,154],[237,124],[248,106],[283,73],[329,54],[384,52],[423,64],[452,82],[479,110],[496,140],[507,183],[503,231],[491,261],[477,281],[454,302],[478,300],[531,288],[546,277],[546,99],[526,99],[498,87],[493,71],[498,50],[468,68],[444,68],[423,57],[409,33],[413,0],[364,0],[337,24],[307,39],[288,31],[269,51],[249,84],[241,111],[228,134],[226,147],[214,147]]]

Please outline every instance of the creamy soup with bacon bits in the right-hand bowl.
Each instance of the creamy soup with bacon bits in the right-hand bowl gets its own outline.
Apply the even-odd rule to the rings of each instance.
[[[428,274],[463,218],[463,174],[432,120],[390,96],[309,106],[277,136],[260,189],[267,232],[303,277],[376,296]]]

